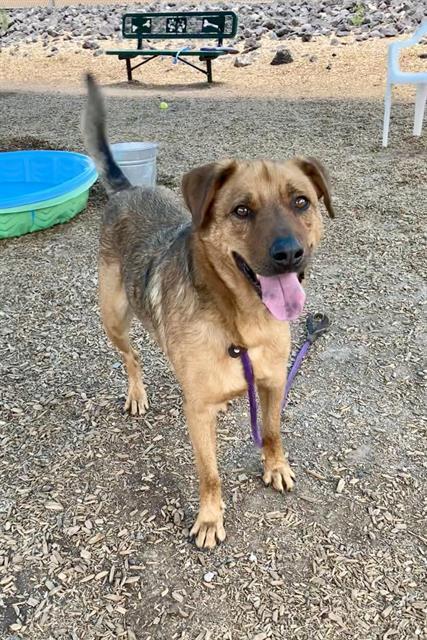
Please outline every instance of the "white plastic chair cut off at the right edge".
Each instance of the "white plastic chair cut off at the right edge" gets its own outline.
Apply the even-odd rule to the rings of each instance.
[[[399,55],[402,49],[417,44],[427,34],[427,22],[414,33],[412,38],[403,42],[393,42],[388,48],[387,86],[384,98],[384,127],[383,147],[388,145],[388,130],[390,128],[391,96],[394,84],[415,84],[417,93],[415,98],[414,136],[420,136],[423,126],[424,109],[427,100],[427,71],[401,71]]]

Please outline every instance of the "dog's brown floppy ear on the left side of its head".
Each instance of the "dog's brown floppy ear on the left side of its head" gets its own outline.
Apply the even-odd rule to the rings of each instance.
[[[201,229],[209,221],[209,213],[219,189],[236,170],[234,160],[212,162],[186,173],[182,193],[193,216],[193,226]]]

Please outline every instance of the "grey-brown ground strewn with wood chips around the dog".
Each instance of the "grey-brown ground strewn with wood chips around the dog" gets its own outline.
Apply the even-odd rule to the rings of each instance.
[[[5,93],[0,145],[79,149],[81,107]],[[141,99],[108,108],[112,138],[134,137]],[[426,638],[427,148],[409,135],[413,106],[395,108],[387,150],[379,101],[177,96],[159,115],[151,97],[144,114],[173,188],[226,155],[303,152],[330,169],[338,217],[308,309],[333,325],[283,419],[297,488],[262,486],[246,403],[234,403],[219,425],[228,538],[212,553],[189,543],[197,485],[181,394],[139,326],[151,408],[122,413],[125,376],[97,310],[95,187],[71,223],[0,244],[0,637]]]

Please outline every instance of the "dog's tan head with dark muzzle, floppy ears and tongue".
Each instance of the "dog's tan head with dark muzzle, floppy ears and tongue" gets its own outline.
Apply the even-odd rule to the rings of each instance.
[[[214,268],[237,270],[276,317],[296,317],[298,281],[322,235],[321,198],[334,216],[322,165],[226,160],[187,173],[182,190]]]

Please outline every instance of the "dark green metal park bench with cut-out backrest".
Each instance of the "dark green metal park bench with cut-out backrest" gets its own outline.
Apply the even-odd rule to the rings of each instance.
[[[237,32],[237,15],[233,11],[188,11],[165,13],[126,13],[122,18],[122,34],[125,39],[136,39],[136,49],[111,49],[105,53],[118,56],[126,61],[127,79],[132,81],[132,71],[154,60],[159,56],[172,56],[197,69],[212,82],[212,60],[237,53],[231,47],[223,45],[225,38],[234,38]],[[187,47],[172,49],[148,49],[143,46],[143,39],[149,40],[216,40],[215,46],[190,49]],[[206,69],[201,68],[187,57],[197,56],[206,62]],[[143,60],[132,66],[134,58]]]

